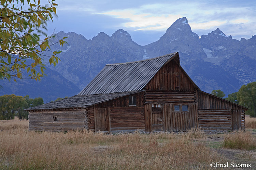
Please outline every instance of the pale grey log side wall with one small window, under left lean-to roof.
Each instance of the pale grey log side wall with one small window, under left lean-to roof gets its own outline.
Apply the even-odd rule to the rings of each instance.
[[[54,116],[57,116],[57,121],[54,121]],[[30,131],[65,131],[76,129],[88,129],[85,110],[29,113]]]

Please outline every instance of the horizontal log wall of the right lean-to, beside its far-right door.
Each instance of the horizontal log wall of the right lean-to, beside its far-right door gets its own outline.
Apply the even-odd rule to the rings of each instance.
[[[232,130],[230,110],[198,110],[198,121],[203,130]]]

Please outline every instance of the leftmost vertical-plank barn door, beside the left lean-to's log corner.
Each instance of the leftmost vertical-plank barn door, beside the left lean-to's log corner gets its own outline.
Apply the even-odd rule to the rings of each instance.
[[[108,114],[107,108],[95,108],[95,111],[94,111],[95,131],[107,130],[107,127],[108,127],[107,114]]]

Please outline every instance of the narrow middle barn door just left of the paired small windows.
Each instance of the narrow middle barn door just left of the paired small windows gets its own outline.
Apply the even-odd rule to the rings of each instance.
[[[152,130],[163,130],[163,113],[161,107],[152,107]]]

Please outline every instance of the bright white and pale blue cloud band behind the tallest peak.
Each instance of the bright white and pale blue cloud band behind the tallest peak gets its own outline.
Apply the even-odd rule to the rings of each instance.
[[[192,29],[209,29],[223,24],[250,22],[255,11],[252,7],[227,6],[222,4],[206,3],[203,1],[179,3],[152,3],[123,10],[98,12],[115,18],[125,18],[130,22],[122,24],[123,27],[134,30],[162,30],[167,29],[178,18],[187,17]],[[243,19],[241,19],[243,18]],[[251,18],[246,19],[246,18]]]

